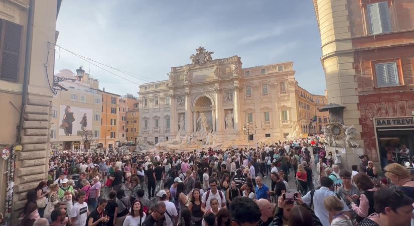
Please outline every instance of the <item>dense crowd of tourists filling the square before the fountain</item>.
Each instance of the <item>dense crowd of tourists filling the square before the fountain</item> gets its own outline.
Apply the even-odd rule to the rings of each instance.
[[[249,149],[55,153],[48,180],[27,192],[20,224],[410,224],[414,180],[404,166],[389,164],[379,177],[361,156],[348,171],[341,153],[319,138]]]

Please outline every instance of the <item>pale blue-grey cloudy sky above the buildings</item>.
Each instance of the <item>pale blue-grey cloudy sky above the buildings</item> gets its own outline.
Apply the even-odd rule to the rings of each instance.
[[[326,89],[309,0],[65,0],[56,29],[63,48],[134,75],[98,64],[124,80],[62,49],[55,72],[83,65],[100,88],[120,95],[168,79],[200,45],[213,59],[240,56],[243,67],[293,61],[299,85],[315,94]]]

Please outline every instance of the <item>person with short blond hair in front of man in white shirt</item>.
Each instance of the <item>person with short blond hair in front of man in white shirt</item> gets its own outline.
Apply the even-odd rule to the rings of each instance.
[[[352,220],[344,214],[344,204],[336,196],[328,196],[324,200],[326,210],[329,212],[331,226],[352,226]]]

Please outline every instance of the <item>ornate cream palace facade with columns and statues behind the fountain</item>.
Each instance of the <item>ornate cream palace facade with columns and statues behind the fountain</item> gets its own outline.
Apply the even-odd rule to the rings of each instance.
[[[158,143],[206,130],[219,141],[247,140],[248,128],[249,140],[259,141],[292,132],[299,120],[293,62],[242,68],[238,56],[213,60],[213,52],[196,51],[168,80],[140,86],[139,137]]]

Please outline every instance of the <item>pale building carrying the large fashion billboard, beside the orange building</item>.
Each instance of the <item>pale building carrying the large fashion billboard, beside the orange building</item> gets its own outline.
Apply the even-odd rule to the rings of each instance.
[[[76,79],[69,69],[56,76]],[[67,91],[59,91],[52,99],[50,148],[57,150],[95,149],[101,126],[102,96],[96,88],[98,80],[87,73],[81,81],[60,82]],[[92,137],[86,138],[85,131]]]

